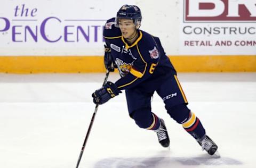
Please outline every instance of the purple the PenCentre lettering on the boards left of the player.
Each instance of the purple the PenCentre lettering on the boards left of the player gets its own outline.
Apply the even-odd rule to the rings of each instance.
[[[26,8],[25,4],[21,6],[17,5],[14,8],[14,19],[0,17],[0,21],[2,20],[4,22],[4,26],[0,28],[0,32],[11,31],[11,39],[15,43],[27,42],[28,38],[35,41],[35,43],[37,43],[38,40],[43,40],[47,43],[57,43],[58,41],[78,43],[82,40],[88,43],[102,43],[104,41],[102,30],[106,20],[61,20],[56,16],[49,16],[42,21],[38,21],[34,19],[37,15],[37,11],[36,8],[32,10]],[[27,17],[33,19],[27,19]],[[95,24],[95,22],[99,22],[99,24]],[[55,32],[56,30],[54,30],[54,36],[51,36],[53,33],[52,24],[56,27],[60,27],[60,31]],[[56,29],[56,27],[54,28]]]

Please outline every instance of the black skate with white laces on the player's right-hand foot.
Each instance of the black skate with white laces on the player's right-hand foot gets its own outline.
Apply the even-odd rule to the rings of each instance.
[[[213,142],[213,140],[206,135],[197,140],[197,142],[209,155],[213,155],[218,149],[218,146]]]

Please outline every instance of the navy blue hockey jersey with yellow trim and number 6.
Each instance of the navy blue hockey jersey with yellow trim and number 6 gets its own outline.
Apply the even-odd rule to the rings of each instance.
[[[120,90],[135,86],[147,86],[149,90],[154,90],[153,83],[160,84],[166,74],[176,74],[159,38],[142,30],[137,31],[137,40],[129,44],[121,30],[115,27],[115,18],[109,19],[103,30],[103,37],[111,48],[111,56],[122,77],[115,82]]]

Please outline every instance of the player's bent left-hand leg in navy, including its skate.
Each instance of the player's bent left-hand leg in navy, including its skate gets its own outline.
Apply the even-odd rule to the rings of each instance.
[[[140,128],[154,130],[157,133],[159,143],[163,147],[168,147],[170,140],[164,121],[151,112],[150,100],[153,93],[145,93],[140,89],[126,89],[129,115]]]

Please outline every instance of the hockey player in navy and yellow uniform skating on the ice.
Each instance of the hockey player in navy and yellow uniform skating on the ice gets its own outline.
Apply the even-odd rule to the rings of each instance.
[[[202,123],[187,107],[187,99],[169,58],[158,37],[139,29],[141,11],[135,5],[123,5],[116,18],[105,24],[105,67],[119,70],[121,78],[108,81],[92,94],[95,104],[106,103],[125,90],[128,111],[143,129],[154,130],[163,147],[170,140],[164,120],[151,112],[154,92],[162,97],[168,114],[193,136],[202,149],[213,155],[218,146],[206,135]]]

